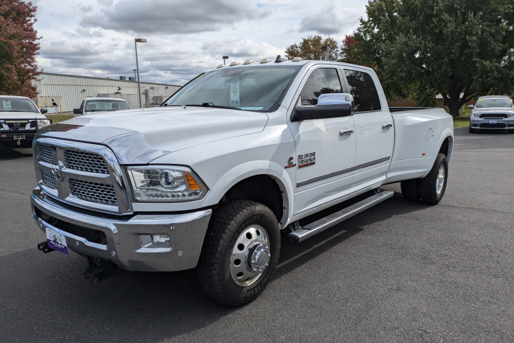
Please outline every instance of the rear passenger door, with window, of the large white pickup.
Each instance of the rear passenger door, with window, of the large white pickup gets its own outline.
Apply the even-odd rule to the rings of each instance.
[[[351,192],[385,180],[394,145],[394,123],[375,73],[343,68],[348,91],[355,99],[355,171]],[[379,92],[381,93],[379,95]]]

